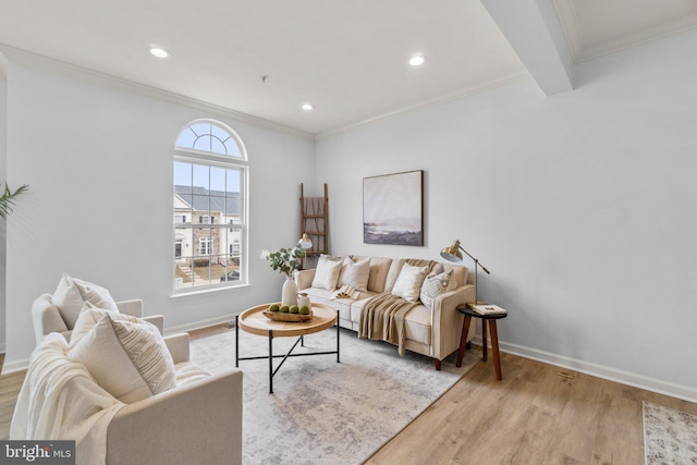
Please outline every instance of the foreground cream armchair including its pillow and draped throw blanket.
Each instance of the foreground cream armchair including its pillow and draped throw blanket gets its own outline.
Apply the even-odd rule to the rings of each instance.
[[[10,439],[73,439],[78,465],[241,464],[242,382],[191,363],[188,334],[86,304],[32,353]]]

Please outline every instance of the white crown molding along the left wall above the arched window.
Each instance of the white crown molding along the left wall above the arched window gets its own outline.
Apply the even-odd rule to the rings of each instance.
[[[192,97],[186,97],[181,94],[159,89],[157,87],[136,83],[134,81],[124,79],[111,74],[101,73],[99,71],[90,70],[88,68],[80,66],[72,63],[66,63],[53,58],[37,54],[0,42],[0,64],[2,64],[3,60],[8,62],[26,64],[53,73],[77,77],[80,79],[88,81],[94,84],[118,88],[132,94],[143,95],[170,103],[181,105],[184,107],[204,111],[211,115],[230,118],[242,123],[248,123],[267,130],[292,134],[302,138],[313,139],[314,137],[311,133],[286,126],[284,124],[274,123],[272,121],[254,117],[252,114],[235,111],[231,108],[221,107]],[[2,66],[0,66],[0,77],[2,77]]]

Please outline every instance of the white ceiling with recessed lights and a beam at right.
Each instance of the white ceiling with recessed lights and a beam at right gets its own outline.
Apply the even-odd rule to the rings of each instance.
[[[5,54],[315,135],[527,76],[566,91],[574,63],[694,27],[695,0],[0,0]]]

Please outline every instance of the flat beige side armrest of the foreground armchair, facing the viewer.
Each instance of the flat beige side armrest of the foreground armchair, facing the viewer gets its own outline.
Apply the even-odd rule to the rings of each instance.
[[[126,405],[107,431],[107,464],[242,463],[242,371]]]

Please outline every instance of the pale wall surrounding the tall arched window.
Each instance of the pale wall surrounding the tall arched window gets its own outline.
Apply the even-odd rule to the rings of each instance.
[[[283,277],[258,258],[297,241],[299,183],[314,142],[25,62],[8,66],[8,181],[29,184],[8,219],[7,358],[35,346],[30,306],[62,272],[143,298],[166,327],[224,321],[280,298]],[[197,118],[234,129],[249,155],[252,285],[172,299],[172,149]],[[166,329],[167,329],[166,328]]]

